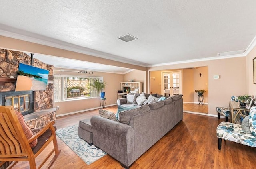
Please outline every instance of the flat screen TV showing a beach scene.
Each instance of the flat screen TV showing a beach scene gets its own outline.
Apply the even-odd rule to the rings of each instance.
[[[48,75],[48,70],[20,63],[15,91],[46,90]]]

